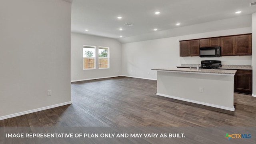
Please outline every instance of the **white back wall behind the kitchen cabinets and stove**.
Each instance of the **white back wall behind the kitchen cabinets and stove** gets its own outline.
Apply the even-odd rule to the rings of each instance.
[[[180,57],[179,40],[251,32],[252,28],[246,27],[122,44],[122,75],[156,79],[156,71],[151,70],[151,68],[176,67],[180,64],[200,64],[201,60],[209,59],[199,58],[199,56]],[[222,60],[223,64],[252,64],[252,56],[223,56],[210,59]]]

